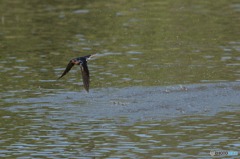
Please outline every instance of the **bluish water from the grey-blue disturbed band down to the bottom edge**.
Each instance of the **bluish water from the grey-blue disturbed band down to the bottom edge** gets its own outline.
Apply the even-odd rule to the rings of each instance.
[[[236,151],[239,88],[109,87],[91,95],[63,90],[8,98],[1,109],[0,156],[193,158],[222,146]]]

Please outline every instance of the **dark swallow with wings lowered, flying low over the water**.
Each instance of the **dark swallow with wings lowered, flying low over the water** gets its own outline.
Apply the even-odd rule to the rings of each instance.
[[[64,75],[66,75],[74,65],[79,65],[81,68],[81,71],[82,71],[83,85],[84,85],[86,92],[88,93],[90,77],[89,77],[89,71],[88,71],[88,67],[87,67],[87,61],[91,57],[96,56],[97,54],[98,53],[87,55],[84,57],[78,57],[78,58],[74,58],[74,59],[70,60],[65,71],[58,79],[62,78]]]

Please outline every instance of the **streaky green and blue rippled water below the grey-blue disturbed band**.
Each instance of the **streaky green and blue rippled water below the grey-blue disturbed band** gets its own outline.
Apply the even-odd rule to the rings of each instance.
[[[74,112],[44,103],[2,113],[1,157],[199,157],[222,149],[222,143],[225,150],[238,150],[236,112],[132,124],[125,118],[72,117]]]

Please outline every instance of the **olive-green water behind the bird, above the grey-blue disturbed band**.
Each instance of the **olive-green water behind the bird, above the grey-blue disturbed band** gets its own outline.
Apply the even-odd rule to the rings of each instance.
[[[236,2],[1,3],[2,91],[74,89],[67,77],[50,80],[70,59],[95,52],[106,56],[89,62],[91,88],[239,79]]]

